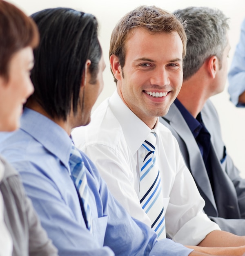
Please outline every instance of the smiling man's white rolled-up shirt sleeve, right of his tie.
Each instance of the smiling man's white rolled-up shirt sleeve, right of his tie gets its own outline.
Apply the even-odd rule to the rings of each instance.
[[[178,243],[198,245],[207,234],[220,228],[204,213],[205,201],[185,165],[178,142],[170,131],[168,133],[163,141],[168,147],[161,152],[162,163],[168,166],[164,178],[169,181],[165,183],[165,189],[169,186],[170,198],[165,215],[166,231]]]

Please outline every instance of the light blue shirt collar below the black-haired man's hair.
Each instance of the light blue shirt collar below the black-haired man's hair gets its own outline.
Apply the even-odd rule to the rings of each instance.
[[[44,115],[25,108],[20,119],[20,128],[39,141],[48,151],[56,155],[69,168],[71,138],[58,124]]]

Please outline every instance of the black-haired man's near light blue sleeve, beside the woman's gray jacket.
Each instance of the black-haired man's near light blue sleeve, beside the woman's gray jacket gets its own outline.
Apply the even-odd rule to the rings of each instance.
[[[85,222],[79,222],[71,210],[71,205],[67,205],[65,198],[62,198],[56,184],[49,177],[30,162],[15,164],[22,177],[25,191],[32,200],[42,226],[58,248],[59,256],[114,255],[109,247],[101,247],[98,244],[86,228]],[[80,207],[79,201],[74,203]]]

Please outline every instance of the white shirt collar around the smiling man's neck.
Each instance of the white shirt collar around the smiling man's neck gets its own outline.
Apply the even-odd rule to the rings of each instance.
[[[117,91],[110,97],[109,107],[120,123],[127,145],[134,155],[152,130],[125,105]],[[158,123],[154,128],[156,133]]]

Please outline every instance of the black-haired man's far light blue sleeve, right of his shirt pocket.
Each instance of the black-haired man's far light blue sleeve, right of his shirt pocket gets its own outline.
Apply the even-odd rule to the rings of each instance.
[[[100,208],[100,201],[102,201],[102,214],[103,216],[108,216],[104,245],[110,247],[115,255],[180,256],[189,255],[192,252],[187,247],[174,243],[169,239],[157,241],[156,233],[143,222],[131,218],[127,211],[111,195],[107,184],[100,177],[94,164],[90,163],[88,166],[85,160],[85,165],[87,165],[87,169],[93,170],[91,172],[91,175],[94,176],[93,180],[98,181],[92,182],[87,175],[91,187],[96,187],[96,183],[98,183],[98,188],[94,190],[96,204]],[[99,191],[99,196],[97,191]],[[99,213],[99,215],[102,214]]]

